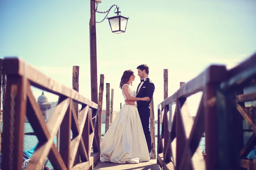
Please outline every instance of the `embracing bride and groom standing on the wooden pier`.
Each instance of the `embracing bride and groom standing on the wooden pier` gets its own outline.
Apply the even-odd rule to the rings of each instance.
[[[125,104],[103,137],[101,161],[136,164],[150,160],[149,104],[155,87],[148,78],[147,65],[139,65],[137,70],[141,79],[137,91],[132,88],[134,72],[126,70],[122,75],[120,88]]]

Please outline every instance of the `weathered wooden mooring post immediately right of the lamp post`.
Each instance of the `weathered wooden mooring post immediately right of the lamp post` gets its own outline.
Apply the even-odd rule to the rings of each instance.
[[[104,74],[101,74],[100,75],[100,82],[99,82],[99,104],[98,104],[99,134],[101,134],[101,125],[102,125],[103,92],[104,92]],[[101,137],[99,138],[99,143],[101,144]]]

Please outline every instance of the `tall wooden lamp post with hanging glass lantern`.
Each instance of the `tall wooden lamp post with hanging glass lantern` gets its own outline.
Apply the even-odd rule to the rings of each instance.
[[[109,8],[108,11],[100,12],[97,11],[98,3],[101,3],[101,0],[90,0],[90,78],[91,78],[91,100],[98,104],[98,74],[97,74],[97,45],[96,45],[96,12],[98,13],[107,13],[105,18],[108,16],[113,5]],[[111,26],[111,31],[113,33],[119,34],[123,33],[126,30],[126,25],[128,18],[119,15],[119,7],[116,6],[117,16],[108,18],[109,24]],[[104,21],[105,18],[102,20]],[[101,22],[102,22],[101,21]],[[98,23],[101,23],[98,22]]]

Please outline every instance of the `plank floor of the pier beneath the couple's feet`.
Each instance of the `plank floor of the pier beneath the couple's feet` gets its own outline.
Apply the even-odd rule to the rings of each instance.
[[[157,160],[151,159],[148,162],[139,164],[114,164],[110,162],[102,162],[93,170],[161,170],[157,164]]]

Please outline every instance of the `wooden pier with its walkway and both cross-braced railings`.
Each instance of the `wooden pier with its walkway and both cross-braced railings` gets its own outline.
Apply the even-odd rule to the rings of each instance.
[[[171,96],[165,93],[157,108],[157,159],[152,142],[153,159],[140,164],[100,162],[102,106],[19,58],[5,58],[2,65],[7,78],[1,164],[4,170],[22,167],[25,116],[39,141],[27,170],[41,170],[46,159],[55,170],[256,170],[256,161],[247,159],[256,145],[256,105],[245,105],[256,101],[256,54],[230,70],[224,65],[211,65],[186,84],[181,83]],[[31,86],[59,96],[47,124]],[[254,91],[244,94],[248,87],[254,87]],[[186,99],[200,91],[203,95],[193,120]],[[75,104],[81,105],[79,113]],[[172,105],[176,105],[174,112]],[[151,122],[154,125],[154,119]],[[243,123],[251,130],[244,129]],[[244,132],[254,132],[247,142]],[[53,143],[56,134],[59,147]],[[198,146],[202,134],[206,142],[204,155]]]

